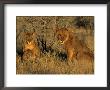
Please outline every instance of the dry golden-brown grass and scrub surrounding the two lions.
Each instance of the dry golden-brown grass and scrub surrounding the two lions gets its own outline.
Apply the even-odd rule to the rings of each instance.
[[[94,74],[94,60],[81,58],[67,63],[66,52],[61,45],[58,44],[55,36],[54,29],[58,27],[75,28],[74,34],[86,43],[87,47],[94,52],[94,30],[91,30],[88,25],[84,28],[77,28],[75,19],[77,17],[17,17],[17,30],[16,30],[16,74]],[[85,17],[86,18],[86,17]],[[93,22],[94,17],[89,17]],[[75,22],[75,24],[73,23]],[[91,26],[90,26],[91,27]],[[93,29],[93,26],[92,26]],[[22,59],[22,32],[37,32],[38,42],[41,39],[46,41],[46,46],[51,47],[53,50],[42,50],[42,45],[39,43],[41,56],[36,60],[23,60]],[[59,52],[64,53],[59,55]]]

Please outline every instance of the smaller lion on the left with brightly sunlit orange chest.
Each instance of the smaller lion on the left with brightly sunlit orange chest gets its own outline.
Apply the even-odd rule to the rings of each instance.
[[[36,60],[40,56],[40,50],[35,32],[24,32],[23,38],[23,60]]]

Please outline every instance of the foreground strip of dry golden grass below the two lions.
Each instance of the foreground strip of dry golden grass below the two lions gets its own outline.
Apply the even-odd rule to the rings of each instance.
[[[93,60],[79,60],[71,62],[61,61],[48,54],[37,61],[22,61],[17,59],[17,74],[93,74]]]

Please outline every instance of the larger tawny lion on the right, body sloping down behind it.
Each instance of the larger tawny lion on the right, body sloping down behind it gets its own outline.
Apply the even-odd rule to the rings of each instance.
[[[68,62],[82,58],[93,59],[93,53],[72,31],[67,28],[57,28],[55,36],[67,53]]]

